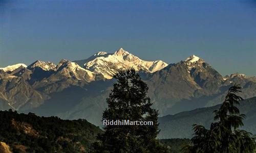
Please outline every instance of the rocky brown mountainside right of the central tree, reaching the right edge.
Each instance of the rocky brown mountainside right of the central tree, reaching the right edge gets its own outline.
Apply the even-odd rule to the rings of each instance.
[[[241,77],[242,76],[242,77]],[[225,91],[241,84],[244,98],[255,96],[255,77],[231,74],[225,78],[203,59],[195,55],[177,64],[149,74],[149,94],[160,114],[175,114],[205,106],[214,106],[224,99]]]

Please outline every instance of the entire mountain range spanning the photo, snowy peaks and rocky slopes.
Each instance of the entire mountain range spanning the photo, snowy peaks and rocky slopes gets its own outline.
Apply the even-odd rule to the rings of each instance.
[[[98,52],[77,61],[58,64],[35,61],[0,69],[0,110],[14,109],[64,119],[85,118],[101,126],[105,98],[113,76],[134,68],[147,83],[160,116],[220,104],[227,89],[243,87],[243,98],[256,96],[256,77],[230,74],[223,77],[203,59],[192,55],[178,63],[144,61],[124,49]]]

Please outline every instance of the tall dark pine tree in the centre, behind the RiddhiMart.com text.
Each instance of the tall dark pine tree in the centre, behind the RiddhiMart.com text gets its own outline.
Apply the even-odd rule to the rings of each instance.
[[[156,139],[158,111],[151,108],[148,87],[134,69],[121,71],[106,99],[103,120],[153,121],[153,125],[106,125],[94,143],[95,152],[165,152]]]

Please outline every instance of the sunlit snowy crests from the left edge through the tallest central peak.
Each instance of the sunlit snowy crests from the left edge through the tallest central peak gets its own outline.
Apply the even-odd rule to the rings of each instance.
[[[78,80],[84,80],[84,78],[86,78],[86,80],[90,82],[94,80],[93,78],[95,77],[95,74],[101,76],[100,78],[112,79],[113,76],[120,70],[134,68],[137,71],[153,73],[160,69],[163,69],[168,65],[161,60],[141,60],[140,58],[130,54],[129,52],[126,52],[123,48],[118,49],[113,54],[98,52],[86,60],[78,60],[74,62],[66,61],[67,60],[61,60],[58,65],[55,65],[52,62],[43,62],[37,60],[30,64],[28,67],[25,64],[16,64],[2,69],[4,71],[12,72],[22,65],[23,67],[27,67],[27,69],[32,71],[34,71],[35,68],[40,68],[45,71],[58,71],[61,65],[63,63],[66,63],[64,67],[67,67],[69,70],[71,70],[74,74],[74,77],[76,77]],[[38,69],[35,72],[38,72]],[[85,77],[84,74],[87,74],[87,77]],[[72,77],[68,73],[66,73],[65,75]]]

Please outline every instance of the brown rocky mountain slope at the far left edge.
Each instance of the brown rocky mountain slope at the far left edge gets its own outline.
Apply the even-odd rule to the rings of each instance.
[[[2,110],[39,107],[47,94],[32,88],[22,77],[0,70],[0,106]]]

